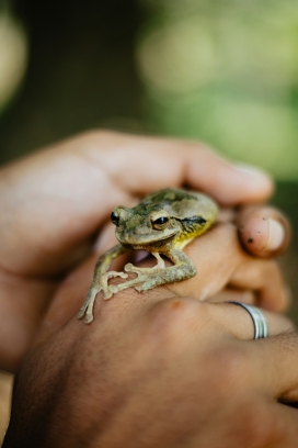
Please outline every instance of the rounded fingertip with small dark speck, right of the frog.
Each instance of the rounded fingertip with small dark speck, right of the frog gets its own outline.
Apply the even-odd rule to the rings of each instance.
[[[290,239],[289,222],[271,206],[244,208],[237,216],[237,225],[243,247],[259,257],[282,254]]]

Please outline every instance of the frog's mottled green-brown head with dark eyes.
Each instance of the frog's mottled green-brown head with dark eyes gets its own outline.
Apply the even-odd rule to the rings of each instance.
[[[164,208],[137,205],[134,209],[117,206],[111,214],[116,225],[116,238],[136,249],[160,247],[174,238],[180,227]]]

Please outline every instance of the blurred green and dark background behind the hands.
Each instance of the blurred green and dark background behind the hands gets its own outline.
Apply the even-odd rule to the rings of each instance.
[[[0,163],[90,127],[205,141],[295,231],[297,48],[297,0],[0,0]],[[298,298],[295,232],[282,264]]]

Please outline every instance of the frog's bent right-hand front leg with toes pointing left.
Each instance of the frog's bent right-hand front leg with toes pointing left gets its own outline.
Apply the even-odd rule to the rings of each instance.
[[[153,255],[156,256],[154,253]],[[118,292],[130,287],[135,287],[137,291],[148,291],[160,284],[174,283],[190,279],[196,275],[195,265],[182,250],[171,249],[165,255],[173,261],[174,266],[165,268],[161,267],[161,264],[158,262],[153,268],[137,268],[131,264],[126,265],[125,270],[136,272],[138,277],[124,283],[113,285],[113,292]],[[158,257],[156,256],[156,258]],[[164,264],[163,260],[162,262]]]

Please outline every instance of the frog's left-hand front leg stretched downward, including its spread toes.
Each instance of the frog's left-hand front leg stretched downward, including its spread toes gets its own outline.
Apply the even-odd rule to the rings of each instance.
[[[125,272],[107,272],[112,260],[119,255],[125,254],[127,250],[128,249],[124,248],[123,245],[118,244],[99,258],[95,265],[92,284],[88,291],[84,304],[78,313],[78,318],[82,318],[84,316],[84,322],[90,324],[93,321],[93,306],[98,293],[103,291],[104,299],[110,299],[113,295],[113,292],[110,290],[107,284],[108,279],[113,277],[122,277],[123,279],[127,278],[127,273]]]

